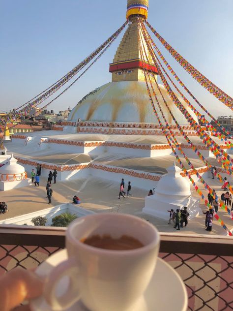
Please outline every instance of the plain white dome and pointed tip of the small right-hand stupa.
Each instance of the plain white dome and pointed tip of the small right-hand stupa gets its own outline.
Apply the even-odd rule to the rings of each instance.
[[[167,171],[168,174],[164,175],[158,182],[156,194],[190,196],[190,184],[186,178],[180,175],[182,170],[174,163],[174,166],[169,167]]]

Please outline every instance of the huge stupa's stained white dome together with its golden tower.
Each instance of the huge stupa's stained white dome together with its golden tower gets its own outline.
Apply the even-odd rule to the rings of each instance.
[[[109,71],[112,82],[100,86],[87,94],[68,117],[68,122],[76,123],[79,119],[92,122],[114,122],[125,124],[159,124],[150,105],[144,69],[157,79],[158,69],[146,47],[145,39],[140,37],[138,19],[147,19],[148,0],[128,0],[127,15],[128,29],[118,46]],[[141,41],[141,42],[140,42]],[[140,46],[145,46],[143,55]],[[148,59],[148,62],[145,61]],[[156,84],[153,84],[159,103],[169,124],[175,125],[166,108]],[[189,125],[180,110],[175,106],[163,85],[159,88],[180,125]],[[196,115],[181,97],[178,97],[185,109],[197,120]],[[160,119],[163,119],[158,113]],[[119,124],[119,126],[120,126]]]

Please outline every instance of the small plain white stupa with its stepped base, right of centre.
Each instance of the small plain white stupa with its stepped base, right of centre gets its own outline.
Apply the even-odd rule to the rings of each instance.
[[[189,219],[197,217],[201,211],[200,200],[191,195],[189,181],[180,175],[182,170],[174,163],[167,171],[158,182],[155,194],[146,196],[143,213],[167,220],[168,210],[187,206]]]

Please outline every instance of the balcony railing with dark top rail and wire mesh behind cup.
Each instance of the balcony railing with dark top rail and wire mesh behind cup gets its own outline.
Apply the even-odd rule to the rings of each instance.
[[[65,229],[2,225],[0,275],[17,266],[34,268],[64,247]],[[188,310],[233,310],[232,238],[161,233],[159,256],[186,284]]]

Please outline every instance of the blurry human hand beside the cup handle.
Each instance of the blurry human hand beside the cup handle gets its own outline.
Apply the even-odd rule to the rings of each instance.
[[[0,311],[29,311],[29,306],[19,305],[43,292],[43,281],[23,268],[13,269],[1,276],[0,284]]]

